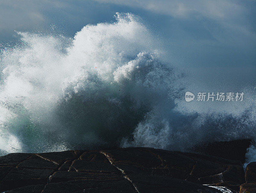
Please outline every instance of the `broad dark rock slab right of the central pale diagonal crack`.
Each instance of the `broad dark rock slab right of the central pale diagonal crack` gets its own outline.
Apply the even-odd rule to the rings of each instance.
[[[124,174],[171,176],[201,184],[231,182],[236,183],[238,188],[244,183],[244,170],[240,161],[152,148],[105,150],[103,153]],[[143,157],[139,158],[140,154]]]

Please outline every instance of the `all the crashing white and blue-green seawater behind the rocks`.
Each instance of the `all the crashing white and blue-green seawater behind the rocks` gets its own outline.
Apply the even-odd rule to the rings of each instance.
[[[244,88],[242,102],[187,103],[185,92],[198,88],[167,59],[163,40],[140,17],[115,19],[86,25],[74,38],[17,32],[20,41],[1,50],[1,155],[113,146],[186,151],[256,136],[255,90]],[[253,151],[248,160],[256,160]]]

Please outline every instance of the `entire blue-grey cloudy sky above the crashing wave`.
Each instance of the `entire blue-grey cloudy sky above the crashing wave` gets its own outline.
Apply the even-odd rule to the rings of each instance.
[[[131,12],[164,40],[170,62],[186,69],[200,89],[254,88],[255,10],[255,0],[0,0],[0,47],[18,41],[15,31],[72,38],[87,24]]]

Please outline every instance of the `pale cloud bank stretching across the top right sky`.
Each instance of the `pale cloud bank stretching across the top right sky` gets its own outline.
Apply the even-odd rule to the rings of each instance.
[[[200,21],[208,19],[224,29],[237,30],[256,40],[251,23],[245,17],[249,12],[246,4],[232,0],[95,0],[100,3],[140,8],[174,19]]]

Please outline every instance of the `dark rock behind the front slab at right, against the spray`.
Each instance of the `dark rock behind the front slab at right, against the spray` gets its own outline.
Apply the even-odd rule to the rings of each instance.
[[[204,153],[226,159],[239,160],[241,161],[241,163],[244,163],[245,153],[247,151],[247,148],[250,147],[251,143],[251,139],[202,143],[201,145],[197,145],[196,147],[191,148],[190,151],[195,151],[197,153]]]

